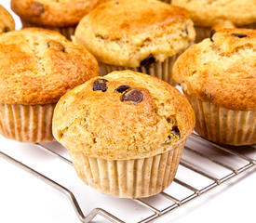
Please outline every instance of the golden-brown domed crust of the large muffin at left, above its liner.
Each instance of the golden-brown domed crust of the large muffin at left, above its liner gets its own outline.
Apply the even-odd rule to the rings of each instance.
[[[0,103],[55,103],[96,75],[96,59],[60,33],[28,28],[0,35]]]

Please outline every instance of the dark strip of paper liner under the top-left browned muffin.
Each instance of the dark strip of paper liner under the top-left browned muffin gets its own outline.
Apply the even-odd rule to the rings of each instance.
[[[71,40],[71,36],[74,35],[74,30],[76,26],[69,26],[69,27],[51,27],[51,26],[39,26],[34,23],[27,22],[25,20],[21,20],[22,22],[22,28],[27,28],[27,27],[39,27],[39,28],[44,28],[47,30],[54,30],[58,31],[62,35],[64,35],[67,39]]]

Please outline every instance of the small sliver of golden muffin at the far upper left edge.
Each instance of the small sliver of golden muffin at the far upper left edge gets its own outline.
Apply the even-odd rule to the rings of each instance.
[[[5,7],[0,5],[0,34],[15,29],[15,22]]]

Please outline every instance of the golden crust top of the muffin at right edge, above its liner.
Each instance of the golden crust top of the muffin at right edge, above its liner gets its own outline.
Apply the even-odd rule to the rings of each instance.
[[[177,59],[173,78],[187,94],[238,111],[256,110],[256,31],[218,30]]]

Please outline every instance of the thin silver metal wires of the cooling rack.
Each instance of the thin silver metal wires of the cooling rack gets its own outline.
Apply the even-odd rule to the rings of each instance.
[[[194,172],[195,174],[197,174],[201,177],[208,178],[210,183],[207,186],[203,186],[201,188],[195,188],[195,186],[185,182],[185,180],[179,178],[179,176],[178,177],[176,176],[174,179],[174,182],[176,184],[178,184],[180,187],[183,187],[183,188],[189,190],[190,194],[188,196],[183,197],[182,199],[179,199],[167,191],[163,191],[163,192],[159,193],[157,196],[163,196],[166,199],[168,199],[168,201],[169,201],[168,206],[165,207],[164,209],[156,208],[155,205],[148,203],[147,201],[145,201],[145,199],[132,200],[135,203],[140,203],[141,205],[148,208],[152,212],[152,215],[141,219],[139,221],[140,223],[153,222],[156,219],[158,219],[160,216],[167,215],[171,211],[177,209],[178,207],[181,207],[184,203],[188,203],[188,202],[194,200],[196,197],[206,193],[209,190],[216,188],[217,186],[221,185],[223,182],[231,179],[232,177],[236,177],[237,175],[239,175],[245,171],[248,171],[250,168],[256,166],[256,159],[255,159],[256,147],[255,146],[243,147],[241,150],[239,150],[239,149],[237,150],[237,147],[221,146],[221,145],[215,144],[213,142],[209,142],[208,140],[201,138],[196,134],[193,134],[190,137],[190,139],[194,141],[194,145],[191,146],[190,143],[187,143],[184,151],[190,152],[194,156],[197,156],[200,159],[207,160],[208,162],[210,162],[212,164],[221,166],[222,168],[228,170],[228,174],[225,174],[222,177],[216,177],[216,176],[210,174],[209,171],[204,168],[205,166],[200,165],[200,164],[193,164],[191,162],[192,159],[190,159],[191,156],[182,156],[182,161],[180,163],[180,166]],[[225,153],[225,156],[236,157],[236,158],[242,160],[243,162],[245,162],[245,164],[242,164],[239,167],[234,167],[233,165],[228,164],[228,162],[223,162],[222,159],[219,159],[220,158],[219,156],[215,156],[215,155],[211,154],[211,152],[205,152],[204,150],[203,151],[197,150],[198,144],[202,144],[202,143],[204,144],[205,148],[206,147],[208,149],[210,148],[211,151],[219,151],[219,152]],[[51,149],[47,148],[46,146],[44,146],[42,144],[35,144],[35,145],[36,145],[36,147],[38,147],[38,149],[47,151],[47,153],[61,159],[61,161],[65,162],[66,164],[72,165],[72,162],[69,159],[62,156],[60,153],[57,153],[56,151],[52,151]],[[244,152],[244,151],[248,151],[248,150],[252,151],[252,152],[250,152],[250,155],[245,154],[246,152]],[[254,156],[254,158],[251,157],[251,155]],[[73,204],[74,211],[81,222],[84,222],[84,223],[90,222],[95,216],[102,216],[109,222],[113,222],[113,223],[125,222],[124,220],[119,219],[118,216],[114,216],[111,213],[109,213],[106,210],[101,209],[101,208],[94,208],[93,210],[91,210],[88,213],[87,216],[84,215],[79,203],[77,202],[77,200],[74,196],[73,191],[63,187],[61,184],[59,184],[55,180],[37,172],[30,166],[20,163],[20,161],[14,159],[13,157],[7,155],[6,153],[4,153],[2,151],[0,151],[0,157],[6,159],[8,162],[10,162],[12,164],[18,165],[20,168],[30,172],[35,177],[42,179],[48,185],[50,185],[50,186],[54,187],[55,189],[60,190],[62,193],[64,193],[68,197],[70,202]]]

